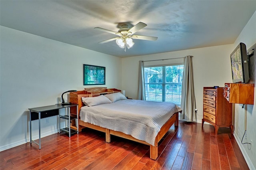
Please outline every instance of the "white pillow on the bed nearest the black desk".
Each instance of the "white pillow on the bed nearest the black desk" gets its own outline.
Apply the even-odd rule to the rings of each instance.
[[[82,102],[84,103],[84,105],[87,106],[96,106],[106,103],[112,103],[112,101],[110,101],[104,95],[100,95],[97,97],[82,97]]]

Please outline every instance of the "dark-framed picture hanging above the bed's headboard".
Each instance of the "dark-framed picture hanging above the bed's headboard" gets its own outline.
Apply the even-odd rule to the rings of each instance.
[[[105,85],[106,67],[84,64],[84,85]]]

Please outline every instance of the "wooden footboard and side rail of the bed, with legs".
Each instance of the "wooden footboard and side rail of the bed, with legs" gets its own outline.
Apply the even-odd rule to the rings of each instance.
[[[122,138],[126,138],[129,140],[133,140],[135,142],[139,142],[142,144],[146,144],[150,146],[150,158],[156,160],[156,158],[158,157],[158,142],[162,139],[162,137],[166,134],[166,132],[168,132],[168,130],[170,129],[170,127],[174,124],[174,126],[178,126],[178,113],[175,113],[165,124],[164,126],[162,126],[162,128],[160,129],[160,132],[158,132],[158,135],[156,136],[155,139],[155,146],[148,144],[147,142],[143,141],[143,140],[138,140],[134,137],[132,137],[131,135],[128,134],[124,134],[122,132],[118,132],[118,131],[114,131],[114,130],[110,130],[107,128],[103,128],[103,127],[99,127],[96,125],[92,125],[90,123],[86,123],[83,122],[79,119],[79,131],[82,130],[82,128],[84,127],[88,127],[88,128],[92,128],[95,130],[99,130],[101,132],[105,132],[106,133],[106,142],[110,142],[110,134],[115,135],[115,136],[119,136]]]

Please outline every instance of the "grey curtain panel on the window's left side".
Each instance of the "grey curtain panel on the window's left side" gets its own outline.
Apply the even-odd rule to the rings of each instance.
[[[139,61],[138,74],[138,100],[146,100],[145,97],[145,82],[144,82],[144,61]]]

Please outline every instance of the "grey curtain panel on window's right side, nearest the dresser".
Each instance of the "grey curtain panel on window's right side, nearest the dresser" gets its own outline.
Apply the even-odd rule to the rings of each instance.
[[[196,121],[196,99],[194,93],[194,77],[192,67],[192,57],[188,55],[184,58],[184,73],[182,81],[182,96],[181,109],[182,113],[180,119],[192,122]]]

